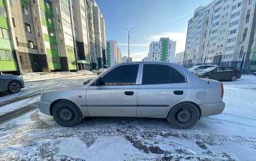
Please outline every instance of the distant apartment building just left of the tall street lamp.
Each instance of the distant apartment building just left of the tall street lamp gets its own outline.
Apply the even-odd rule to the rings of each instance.
[[[106,50],[107,66],[110,67],[122,62],[122,53],[121,50],[118,48],[116,41],[108,40]]]

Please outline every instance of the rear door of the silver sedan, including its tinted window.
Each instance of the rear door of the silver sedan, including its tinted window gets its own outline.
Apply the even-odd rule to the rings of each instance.
[[[186,77],[169,65],[145,63],[138,90],[138,115],[163,116],[187,92]]]

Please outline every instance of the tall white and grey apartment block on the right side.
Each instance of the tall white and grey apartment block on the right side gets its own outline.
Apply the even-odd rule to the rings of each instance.
[[[198,7],[188,22],[184,66],[212,64],[256,70],[256,1],[220,1]]]

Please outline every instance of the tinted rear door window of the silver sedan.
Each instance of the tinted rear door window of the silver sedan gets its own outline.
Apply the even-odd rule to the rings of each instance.
[[[143,85],[179,82],[186,82],[186,79],[175,68],[167,65],[143,65]]]

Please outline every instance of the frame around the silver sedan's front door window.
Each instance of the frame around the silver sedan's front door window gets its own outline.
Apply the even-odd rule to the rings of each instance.
[[[113,66],[113,67],[109,68],[109,70],[104,72],[103,75],[99,75],[95,80],[101,79],[102,77],[104,77],[105,75],[107,75],[109,72],[111,72],[112,70],[114,70],[117,67],[127,66],[127,65],[139,65],[138,73],[137,73],[137,76],[136,76],[136,82],[135,82],[135,85],[139,85],[141,66],[142,66],[141,63],[129,63],[129,64],[122,64],[122,65]],[[91,84],[91,86],[94,86],[94,82]],[[113,85],[106,85],[106,86],[113,86]],[[120,86],[120,85],[117,85],[117,86]],[[127,85],[127,86],[131,86],[131,85]]]

